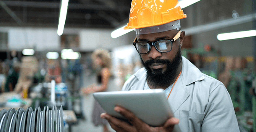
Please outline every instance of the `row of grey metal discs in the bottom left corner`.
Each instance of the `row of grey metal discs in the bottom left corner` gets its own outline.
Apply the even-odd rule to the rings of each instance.
[[[35,111],[31,107],[24,110],[14,108],[3,109],[0,112],[0,132],[63,132],[63,109],[53,106],[36,107]]]

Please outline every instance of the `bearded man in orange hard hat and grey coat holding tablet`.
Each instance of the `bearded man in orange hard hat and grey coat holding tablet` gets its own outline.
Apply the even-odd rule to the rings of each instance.
[[[122,90],[164,89],[175,118],[151,127],[116,106],[115,111],[127,118],[128,123],[106,113],[101,117],[117,132],[172,132],[174,126],[179,126],[181,132],[239,132],[232,101],[223,83],[201,73],[181,56],[185,32],[180,31],[180,19],[185,17],[177,0],[132,1],[125,28],[136,28],[133,44],[144,68],[133,74]]]

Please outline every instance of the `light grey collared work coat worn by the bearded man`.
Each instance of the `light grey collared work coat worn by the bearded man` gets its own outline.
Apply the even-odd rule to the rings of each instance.
[[[146,71],[139,69],[122,90],[143,90]],[[182,57],[180,77],[168,98],[181,132],[239,132],[230,95],[224,84],[199,71]]]

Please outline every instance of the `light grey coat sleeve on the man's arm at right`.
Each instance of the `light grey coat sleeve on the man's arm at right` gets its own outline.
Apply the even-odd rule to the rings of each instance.
[[[239,132],[230,95],[223,84],[209,94],[201,132]]]

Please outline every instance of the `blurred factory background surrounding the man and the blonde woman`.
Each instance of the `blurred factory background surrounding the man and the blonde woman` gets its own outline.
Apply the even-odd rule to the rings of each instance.
[[[181,6],[187,15],[180,21],[182,56],[225,85],[240,131],[256,132],[256,0],[178,1],[189,3]],[[98,49],[111,61],[106,91],[121,91],[143,68],[133,46],[134,29],[123,29],[131,2],[0,0],[0,111],[17,113],[17,119],[23,111],[31,121],[36,112],[45,119],[44,112],[56,112],[63,115],[56,118],[59,132],[102,132],[105,126],[92,121],[92,92],[83,90],[97,85],[92,55]],[[1,128],[1,112],[2,132],[7,126]]]

